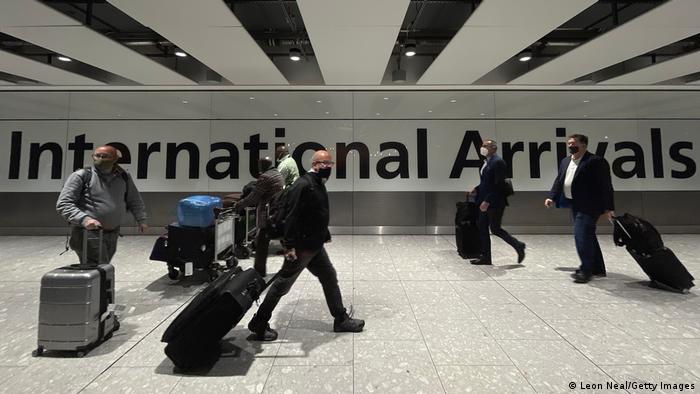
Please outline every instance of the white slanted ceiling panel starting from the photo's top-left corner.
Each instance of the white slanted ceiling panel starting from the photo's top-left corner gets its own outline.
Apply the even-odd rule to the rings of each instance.
[[[67,24],[58,11],[38,1],[0,2],[0,31],[144,85],[193,85],[169,68],[93,31]],[[27,17],[30,16],[30,17]],[[14,18],[25,22],[12,22]],[[63,23],[58,23],[63,21]],[[7,24],[5,24],[7,23]]]

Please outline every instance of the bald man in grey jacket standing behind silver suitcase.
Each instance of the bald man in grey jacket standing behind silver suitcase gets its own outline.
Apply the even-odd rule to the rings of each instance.
[[[92,155],[94,166],[73,172],[66,180],[56,202],[56,211],[71,225],[70,248],[82,264],[108,263],[117,251],[119,226],[126,211],[130,211],[144,232],[146,207],[129,173],[118,166],[117,149],[101,146]],[[102,229],[102,261],[97,261],[100,249],[88,242],[87,261],[83,261],[84,230]]]

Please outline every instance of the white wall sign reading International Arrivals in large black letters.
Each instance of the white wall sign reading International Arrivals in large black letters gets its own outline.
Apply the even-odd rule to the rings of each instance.
[[[299,100],[306,100],[305,94],[299,93]],[[400,94],[408,101],[412,97],[411,92]],[[376,95],[372,108],[390,102]],[[398,95],[391,99],[398,102]],[[255,102],[247,96],[240,100]],[[351,101],[343,96],[336,104],[345,108]],[[445,108],[455,104],[451,101],[441,98]],[[304,116],[322,104],[321,99],[305,104]],[[328,119],[258,119],[262,110],[256,119],[121,119],[122,108],[103,108],[100,116],[114,113],[113,118],[83,114],[81,119],[56,120],[45,114],[42,119],[10,119],[0,111],[0,192],[58,191],[73,170],[90,164],[92,149],[107,143],[122,150],[122,165],[142,191],[240,190],[253,179],[257,159],[273,156],[279,144],[288,145],[305,167],[315,148],[329,150],[337,162],[328,183],[331,191],[463,191],[478,183],[477,152],[485,138],[497,141],[516,190],[541,191],[551,186],[566,152],[566,136],[572,133],[588,135],[589,150],[608,160],[616,190],[700,190],[700,119],[499,118],[498,107],[490,109],[489,119],[460,119],[454,112],[416,119],[413,107],[410,118],[395,111],[392,119],[379,112],[376,119],[357,112],[351,119],[333,119],[330,111],[325,111]],[[142,111],[138,116],[147,115]]]

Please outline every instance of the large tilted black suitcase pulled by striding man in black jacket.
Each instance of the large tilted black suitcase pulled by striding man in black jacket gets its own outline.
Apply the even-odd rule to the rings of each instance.
[[[221,355],[220,341],[243,319],[269,282],[254,269],[227,271],[173,320],[163,334],[165,354],[183,371],[213,365]]]

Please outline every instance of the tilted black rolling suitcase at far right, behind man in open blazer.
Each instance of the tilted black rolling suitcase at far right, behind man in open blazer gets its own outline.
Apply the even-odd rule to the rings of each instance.
[[[687,293],[694,286],[695,278],[673,251],[664,246],[651,223],[627,213],[613,218],[612,222],[615,245],[626,247],[651,279],[651,286],[680,293]]]

